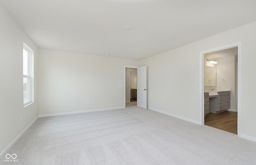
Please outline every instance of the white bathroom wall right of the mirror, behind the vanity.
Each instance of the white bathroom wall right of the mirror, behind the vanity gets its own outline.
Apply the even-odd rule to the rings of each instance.
[[[230,111],[237,111],[236,89],[235,89],[235,56],[228,56],[217,59],[216,64],[216,85],[217,89],[231,88]],[[221,80],[225,80],[221,81]]]

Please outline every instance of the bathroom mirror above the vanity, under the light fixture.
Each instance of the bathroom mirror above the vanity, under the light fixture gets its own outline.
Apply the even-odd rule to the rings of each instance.
[[[204,86],[216,86],[216,67],[204,66]]]

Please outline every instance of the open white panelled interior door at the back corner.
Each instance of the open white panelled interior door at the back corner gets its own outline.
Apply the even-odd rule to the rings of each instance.
[[[137,106],[147,109],[147,66],[137,69]]]

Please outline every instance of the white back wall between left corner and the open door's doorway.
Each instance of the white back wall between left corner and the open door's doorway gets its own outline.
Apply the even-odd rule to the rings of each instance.
[[[124,66],[138,65],[135,60],[45,49],[39,50],[38,62],[39,115],[124,107]]]

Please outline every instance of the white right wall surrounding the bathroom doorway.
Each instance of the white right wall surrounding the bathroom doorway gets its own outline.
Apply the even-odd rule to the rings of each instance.
[[[148,67],[148,107],[199,122],[199,52],[242,43],[241,134],[256,141],[256,22],[140,61]]]

